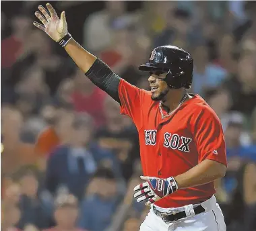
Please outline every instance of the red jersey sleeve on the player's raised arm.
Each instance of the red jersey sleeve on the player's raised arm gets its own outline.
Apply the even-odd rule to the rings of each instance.
[[[129,116],[137,129],[141,128],[142,110],[144,91],[139,89],[124,79],[119,83],[119,98],[121,101],[121,114]]]

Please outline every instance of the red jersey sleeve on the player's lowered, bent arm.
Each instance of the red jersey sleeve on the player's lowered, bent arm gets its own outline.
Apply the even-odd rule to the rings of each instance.
[[[222,124],[212,109],[205,107],[201,110],[194,123],[194,134],[199,163],[209,159],[227,166]]]

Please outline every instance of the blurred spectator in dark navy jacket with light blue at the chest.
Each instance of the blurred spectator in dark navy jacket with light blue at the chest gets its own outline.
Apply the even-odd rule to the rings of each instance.
[[[88,144],[92,140],[92,118],[88,115],[75,116],[69,144],[60,145],[51,156],[46,169],[46,188],[56,194],[59,187],[82,199],[90,175],[96,171],[94,153]]]

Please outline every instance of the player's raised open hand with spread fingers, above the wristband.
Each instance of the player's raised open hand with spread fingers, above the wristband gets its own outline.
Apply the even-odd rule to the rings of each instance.
[[[53,40],[55,40],[55,42],[59,42],[68,34],[65,12],[63,11],[61,13],[61,18],[59,18],[50,3],[47,3],[46,7],[50,13],[46,11],[42,5],[38,7],[40,12],[35,12],[36,17],[38,17],[42,24],[38,24],[36,21],[34,21],[33,24],[48,34]]]

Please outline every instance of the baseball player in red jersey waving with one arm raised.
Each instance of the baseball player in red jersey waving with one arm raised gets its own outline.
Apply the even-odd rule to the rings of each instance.
[[[192,84],[193,59],[175,46],[152,51],[148,71],[151,91],[130,85],[100,59],[77,44],[67,30],[65,12],[39,6],[34,26],[63,46],[85,75],[118,101],[139,132],[143,177],[134,188],[138,202],[150,205],[141,231],[224,231],[214,197],[214,180],[226,173],[226,150],[220,120]]]

